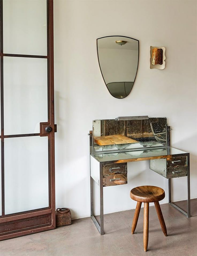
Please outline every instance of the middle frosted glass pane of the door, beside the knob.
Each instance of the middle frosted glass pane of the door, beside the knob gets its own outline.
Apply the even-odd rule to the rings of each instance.
[[[3,57],[4,134],[40,132],[48,121],[47,59]]]

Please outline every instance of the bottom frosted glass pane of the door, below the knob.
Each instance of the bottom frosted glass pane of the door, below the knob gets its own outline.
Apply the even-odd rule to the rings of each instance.
[[[5,138],[5,214],[48,207],[48,137]]]

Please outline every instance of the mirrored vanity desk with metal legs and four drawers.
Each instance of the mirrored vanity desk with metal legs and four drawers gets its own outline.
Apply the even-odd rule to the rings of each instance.
[[[101,235],[104,234],[103,188],[127,184],[128,162],[149,160],[150,169],[168,179],[169,204],[190,218],[190,154],[170,146],[170,130],[165,117],[93,121],[89,133],[91,218]],[[171,201],[171,178],[184,176],[187,176],[187,212]],[[100,223],[94,217],[94,184],[100,190]]]

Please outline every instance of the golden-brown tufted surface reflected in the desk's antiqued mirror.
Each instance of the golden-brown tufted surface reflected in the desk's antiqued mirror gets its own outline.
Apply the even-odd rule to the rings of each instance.
[[[100,146],[105,145],[117,145],[117,144],[128,144],[128,143],[138,143],[137,140],[130,139],[121,134],[118,135],[109,135],[109,136],[99,136],[94,137],[94,142]]]

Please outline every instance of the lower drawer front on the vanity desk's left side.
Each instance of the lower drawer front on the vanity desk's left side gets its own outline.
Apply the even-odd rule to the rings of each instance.
[[[127,184],[127,173],[124,174],[113,174],[113,175],[103,175],[103,186],[115,186]]]

